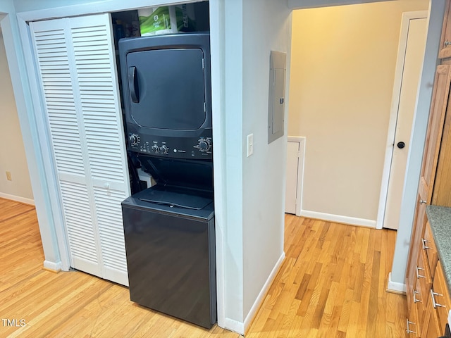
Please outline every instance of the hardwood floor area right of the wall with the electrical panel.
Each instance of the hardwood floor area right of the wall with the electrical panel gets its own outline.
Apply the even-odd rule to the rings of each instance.
[[[285,215],[286,258],[246,337],[406,337],[406,298],[385,292],[395,239]]]

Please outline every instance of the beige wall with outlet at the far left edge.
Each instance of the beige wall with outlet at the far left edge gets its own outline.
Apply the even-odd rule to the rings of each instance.
[[[1,31],[0,74],[0,197],[33,204],[30,175]],[[6,171],[11,172],[11,181],[6,180]]]

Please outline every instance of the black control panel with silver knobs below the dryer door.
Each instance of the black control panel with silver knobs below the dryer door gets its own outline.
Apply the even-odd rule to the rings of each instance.
[[[128,150],[168,158],[213,158],[211,136],[157,137],[130,133]]]

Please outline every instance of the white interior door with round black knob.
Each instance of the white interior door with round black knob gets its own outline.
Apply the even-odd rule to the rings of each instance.
[[[409,20],[407,44],[402,65],[399,104],[397,105],[397,121],[395,139],[393,140],[393,157],[388,180],[388,194],[385,205],[383,227],[397,229],[400,221],[404,175],[409,154],[409,142],[416,104],[421,67],[423,65],[426,46],[427,20],[414,18]],[[395,98],[396,99],[396,98]]]

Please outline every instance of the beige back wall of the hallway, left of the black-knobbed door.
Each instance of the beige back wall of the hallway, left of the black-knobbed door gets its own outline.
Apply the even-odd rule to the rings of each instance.
[[[402,13],[428,2],[294,11],[288,130],[306,137],[304,215],[376,225]]]

